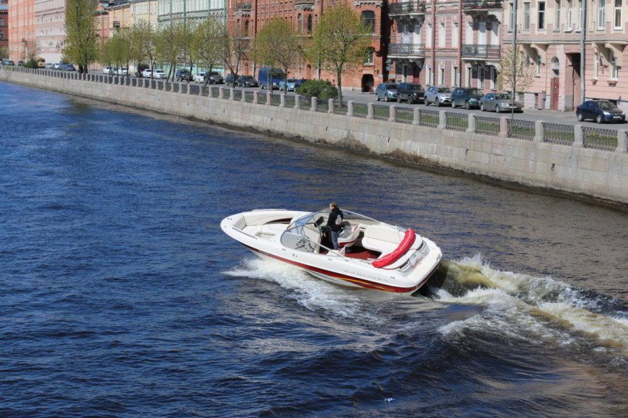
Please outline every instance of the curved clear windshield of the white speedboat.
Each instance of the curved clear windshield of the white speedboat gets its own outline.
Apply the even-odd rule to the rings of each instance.
[[[322,233],[320,226],[327,224],[331,210],[329,208],[318,212],[308,213],[292,222],[281,235],[281,244],[284,247],[299,249],[308,252],[329,251],[321,245]],[[343,223],[357,225],[359,223],[375,223],[375,219],[359,215],[349,210],[343,210]]]

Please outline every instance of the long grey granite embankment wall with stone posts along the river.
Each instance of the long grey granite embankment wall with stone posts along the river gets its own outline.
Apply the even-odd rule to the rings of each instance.
[[[534,125],[532,139],[507,137],[507,118],[499,120],[498,133],[476,133],[476,118],[469,117],[468,129],[446,129],[447,114],[441,111],[436,127],[420,125],[421,113],[414,109],[412,122],[399,123],[391,107],[389,120],[373,118],[373,104],[368,114],[357,117],[349,103],[347,114],[285,106],[285,98],[271,105],[266,92],[255,91],[242,95],[228,88],[220,88],[216,97],[204,89],[204,95],[190,94],[188,84],[149,83],[144,79],[124,79],[101,75],[80,75],[56,72],[48,75],[33,70],[0,70],[0,80],[24,84],[50,91],[105,100],[167,114],[194,117],[232,127],[281,134],[313,143],[323,143],[393,157],[443,169],[463,171],[491,180],[513,183],[571,196],[599,199],[628,208],[628,146],[627,132],[618,132],[618,146],[614,150],[586,148],[581,127],[576,126],[575,141],[571,145],[553,144],[544,140],[543,123]],[[150,87],[149,87],[150,86]],[[154,88],[157,86],[158,88]],[[179,91],[180,89],[180,91]],[[215,91],[215,90],[214,90]],[[264,100],[262,100],[262,98]],[[259,102],[264,102],[260,104]],[[364,106],[364,105],[363,105]],[[477,118],[479,119],[479,118]],[[573,140],[573,137],[572,137]],[[377,175],[377,173],[373,173]]]

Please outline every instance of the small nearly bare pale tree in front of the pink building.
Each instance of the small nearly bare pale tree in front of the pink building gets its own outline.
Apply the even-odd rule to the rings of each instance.
[[[514,53],[513,53],[514,51]],[[534,82],[534,65],[530,65],[521,47],[507,47],[502,51],[498,74],[498,88],[516,92],[527,91]]]

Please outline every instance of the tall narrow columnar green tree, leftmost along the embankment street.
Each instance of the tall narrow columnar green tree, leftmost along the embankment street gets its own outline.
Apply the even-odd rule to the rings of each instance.
[[[87,72],[87,65],[96,61],[98,53],[98,0],[67,0],[66,40],[63,56],[76,63],[79,72]]]

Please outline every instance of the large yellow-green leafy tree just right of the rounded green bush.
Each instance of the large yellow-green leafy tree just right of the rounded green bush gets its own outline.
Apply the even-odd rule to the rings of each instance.
[[[336,71],[338,98],[342,100],[342,75],[364,65],[371,45],[371,28],[345,1],[334,4],[320,17],[312,36],[308,56],[318,56],[322,65]]]

